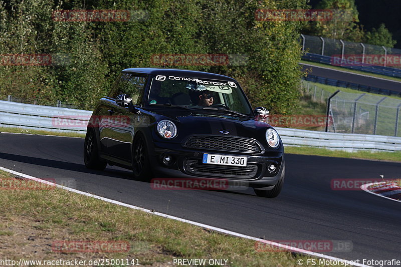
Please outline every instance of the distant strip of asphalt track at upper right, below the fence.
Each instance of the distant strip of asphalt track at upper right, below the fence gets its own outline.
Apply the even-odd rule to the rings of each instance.
[[[366,73],[366,75],[358,75],[352,72],[347,72],[347,69],[345,68],[344,71],[338,71],[329,68],[306,65],[304,63],[300,63],[300,65],[302,65],[302,71],[311,69],[311,75],[401,92],[401,82],[368,76],[369,73]]]

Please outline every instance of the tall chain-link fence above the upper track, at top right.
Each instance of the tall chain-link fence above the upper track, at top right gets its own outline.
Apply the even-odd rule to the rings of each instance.
[[[302,51],[332,57],[332,65],[369,64],[401,68],[401,49],[301,35]]]

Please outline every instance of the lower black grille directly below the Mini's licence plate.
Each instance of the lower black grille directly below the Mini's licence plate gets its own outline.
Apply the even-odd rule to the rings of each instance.
[[[188,172],[196,175],[205,175],[219,178],[242,178],[252,179],[258,172],[258,166],[249,164],[246,167],[222,166],[222,165],[204,165],[199,164],[197,160],[188,160],[186,162]]]

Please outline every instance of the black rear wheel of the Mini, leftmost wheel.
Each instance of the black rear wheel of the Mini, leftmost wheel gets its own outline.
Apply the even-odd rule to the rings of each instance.
[[[107,162],[104,162],[99,158],[99,146],[93,128],[89,128],[86,132],[84,142],[84,163],[85,167],[94,170],[104,170],[107,165]]]

